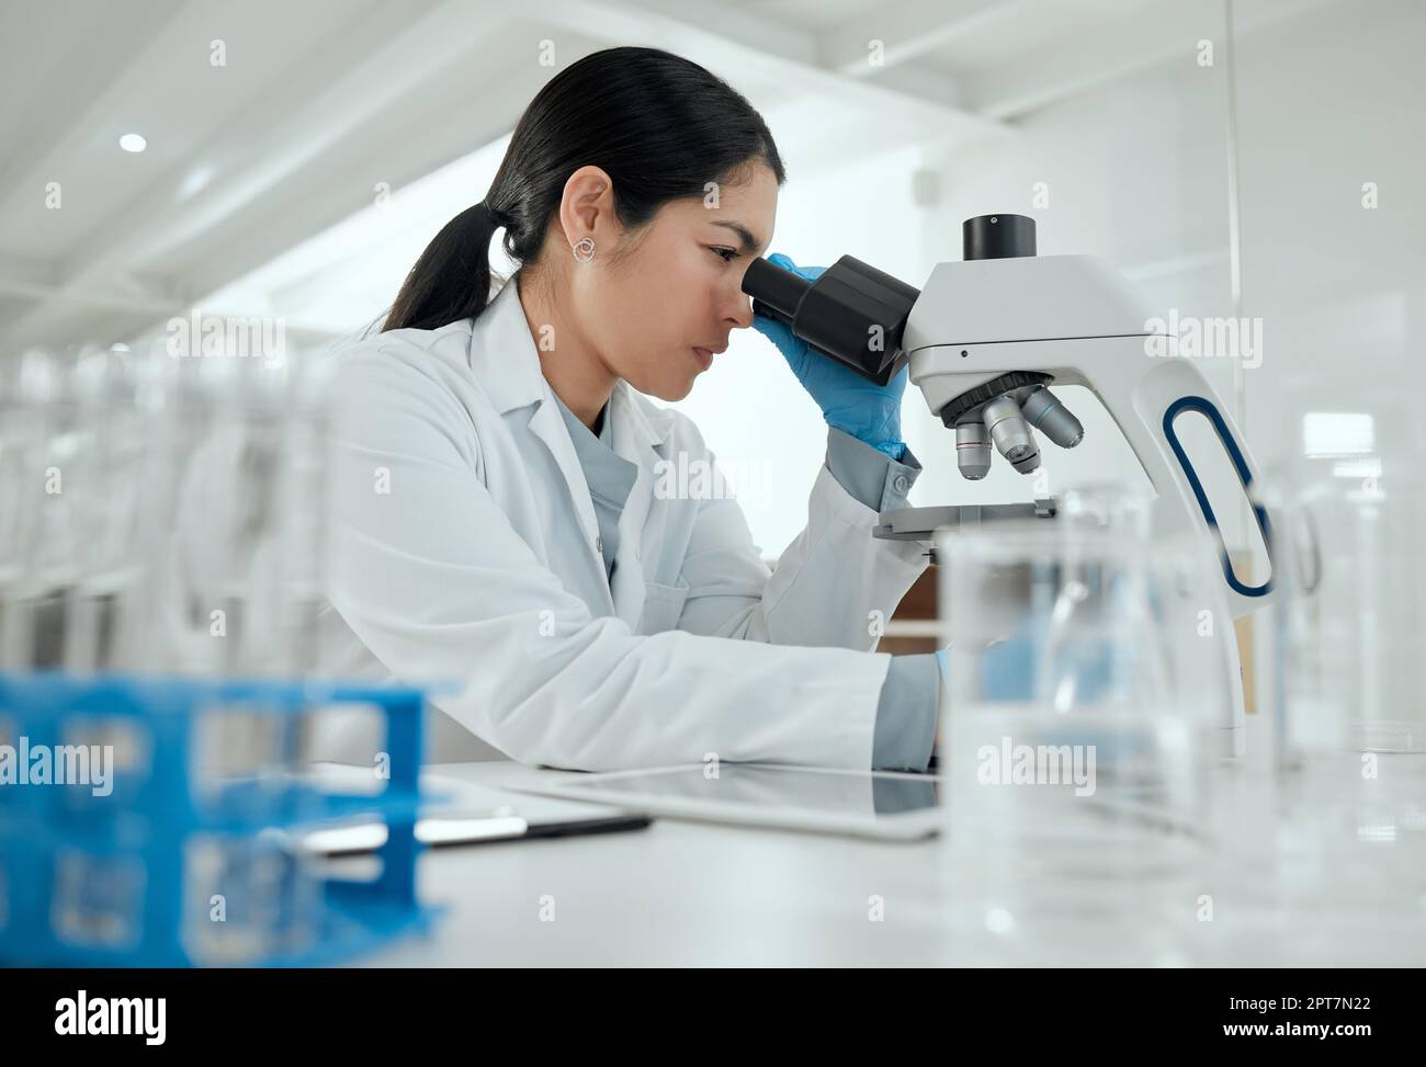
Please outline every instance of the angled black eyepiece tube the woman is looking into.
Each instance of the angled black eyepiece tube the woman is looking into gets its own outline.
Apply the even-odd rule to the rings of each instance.
[[[807,281],[767,260],[743,274],[753,314],[784,322],[809,348],[886,385],[908,357],[901,331],[921,291],[851,255]]]

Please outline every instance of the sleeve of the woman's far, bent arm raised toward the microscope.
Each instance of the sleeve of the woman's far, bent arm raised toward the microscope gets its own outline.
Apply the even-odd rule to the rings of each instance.
[[[683,563],[689,595],[679,629],[773,645],[874,649],[927,559],[920,543],[878,541],[871,531],[880,511],[906,506],[920,469],[910,449],[896,462],[829,429],[807,525],[771,571],[736,499],[700,501]]]

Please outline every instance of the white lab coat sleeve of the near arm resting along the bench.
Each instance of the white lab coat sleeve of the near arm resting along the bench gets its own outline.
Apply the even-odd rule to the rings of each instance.
[[[870,766],[890,656],[592,618],[491,496],[436,371],[361,348],[339,374],[328,599],[398,679],[449,683],[432,702],[525,763]]]

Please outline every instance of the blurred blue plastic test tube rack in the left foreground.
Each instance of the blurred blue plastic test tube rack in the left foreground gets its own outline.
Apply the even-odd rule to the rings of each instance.
[[[107,796],[88,785],[0,785],[0,964],[327,966],[428,930],[438,913],[416,896],[415,836],[424,703],[421,690],[406,688],[0,672],[0,728],[9,745],[23,737],[30,750],[44,745],[56,752],[73,743],[67,737],[76,728],[90,736],[94,728],[114,728],[144,746],[140,769],[114,770]],[[337,705],[381,716],[389,760],[381,792],[317,789],[299,775],[235,779],[215,789],[195,780],[195,730],[204,715],[277,716],[282,735],[304,713]],[[354,880],[314,867],[318,874],[304,874],[307,909],[278,913],[281,922],[301,920],[294,927],[299,937],[245,959],[194,950],[194,937],[185,936],[194,909],[211,919],[208,899],[194,900],[187,884],[185,856],[195,842],[241,856],[260,842],[291,843],[312,829],[372,817],[386,826],[375,853],[379,873]],[[66,929],[66,877],[68,892],[83,894],[96,937]],[[244,903],[224,897],[225,906]]]

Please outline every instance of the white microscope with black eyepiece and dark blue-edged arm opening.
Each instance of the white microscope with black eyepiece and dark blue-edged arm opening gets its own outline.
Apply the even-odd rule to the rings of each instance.
[[[1272,595],[1266,512],[1253,501],[1258,478],[1226,407],[1176,338],[1148,328],[1154,310],[1102,260],[1037,255],[1035,223],[1025,215],[978,215],[963,228],[964,260],[941,262],[917,291],[850,255],[816,281],[754,261],[743,291],[757,314],[786,322],[813,349],[886,384],[910,364],[933,415],[955,432],[955,458],[968,479],[984,478],[991,448],[1017,471],[1040,466],[1035,431],[1062,448],[1079,444],[1079,421],[1047,388],[1084,385],[1104,404],[1148,475],[1154,534],[1192,531],[1215,551],[1222,581],[1198,591],[1218,619],[1235,619]],[[1269,549],[1269,578],[1242,581],[1224,542],[1199,472],[1175,421],[1208,419],[1248,494]],[[906,508],[884,512],[876,535],[925,542],[934,531],[1008,518],[1052,519],[1055,501],[990,506]],[[1186,630],[1185,630],[1186,632]],[[1231,625],[1214,629],[1218,662],[1229,672],[1221,755],[1239,756],[1243,686]]]

